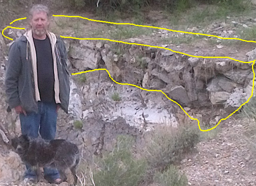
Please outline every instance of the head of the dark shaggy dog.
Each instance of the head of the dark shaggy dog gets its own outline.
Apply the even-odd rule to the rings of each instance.
[[[21,135],[20,137],[13,138],[11,142],[16,153],[23,155],[29,148],[30,139],[27,135]]]

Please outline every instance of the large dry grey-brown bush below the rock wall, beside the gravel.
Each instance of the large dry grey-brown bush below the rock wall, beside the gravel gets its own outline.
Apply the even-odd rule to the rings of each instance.
[[[182,155],[191,152],[198,141],[195,125],[157,127],[146,136],[146,159],[152,168],[164,170],[180,161]]]

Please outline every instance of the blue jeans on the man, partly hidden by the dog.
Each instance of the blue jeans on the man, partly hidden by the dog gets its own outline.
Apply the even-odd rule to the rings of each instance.
[[[56,133],[57,105],[55,103],[38,102],[38,113],[27,112],[27,116],[20,114],[20,125],[23,135],[32,138],[38,137],[38,131],[45,140],[53,140]],[[26,165],[24,178],[36,178],[36,172]],[[44,176],[55,180],[60,178],[57,169],[44,167]]]

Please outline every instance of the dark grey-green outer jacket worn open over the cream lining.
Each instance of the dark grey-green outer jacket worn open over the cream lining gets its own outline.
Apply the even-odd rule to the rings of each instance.
[[[54,55],[58,71],[60,107],[68,113],[70,86],[66,65],[67,52],[60,38],[57,38],[54,45]],[[30,44],[25,36],[21,36],[10,46],[6,68],[5,87],[10,109],[21,105],[25,111],[38,112],[34,79]]]

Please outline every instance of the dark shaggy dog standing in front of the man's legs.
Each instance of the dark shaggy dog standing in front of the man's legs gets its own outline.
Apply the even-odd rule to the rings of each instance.
[[[57,168],[62,180],[66,180],[65,170],[70,168],[74,176],[74,184],[77,182],[76,168],[80,162],[78,147],[66,140],[30,139],[21,135],[12,139],[12,146],[21,160],[36,168],[39,176],[39,167]]]

